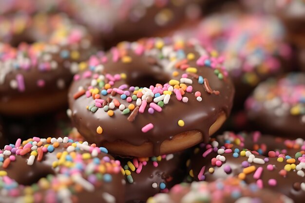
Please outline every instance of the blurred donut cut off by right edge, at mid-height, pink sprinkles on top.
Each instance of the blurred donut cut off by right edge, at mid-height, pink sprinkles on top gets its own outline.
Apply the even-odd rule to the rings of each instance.
[[[305,74],[262,82],[245,103],[248,119],[264,132],[305,137]]]

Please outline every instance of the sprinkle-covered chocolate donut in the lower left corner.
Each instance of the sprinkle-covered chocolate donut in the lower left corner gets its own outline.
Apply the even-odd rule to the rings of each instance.
[[[106,148],[33,137],[0,152],[1,202],[124,203],[122,168]]]

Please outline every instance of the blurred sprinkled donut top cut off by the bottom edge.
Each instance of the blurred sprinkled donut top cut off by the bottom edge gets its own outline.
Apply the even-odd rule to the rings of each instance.
[[[157,194],[147,203],[293,203],[285,195],[246,185],[236,178],[175,185],[168,194]]]

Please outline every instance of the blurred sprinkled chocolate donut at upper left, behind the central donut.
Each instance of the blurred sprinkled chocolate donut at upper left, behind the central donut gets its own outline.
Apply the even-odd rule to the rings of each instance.
[[[90,38],[64,14],[1,16],[0,113],[25,116],[65,107],[81,68],[77,62],[89,58]]]

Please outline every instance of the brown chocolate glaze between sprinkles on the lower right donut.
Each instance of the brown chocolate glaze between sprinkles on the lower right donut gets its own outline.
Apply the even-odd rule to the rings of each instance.
[[[257,132],[256,132],[257,133]],[[236,138],[241,138],[240,139],[240,144],[236,144]],[[219,139],[218,139],[219,138]],[[202,180],[204,179],[205,181],[212,182],[217,179],[226,179],[228,177],[237,177],[240,173],[243,172],[244,166],[242,166],[242,163],[246,161],[248,163],[248,157],[247,156],[241,156],[239,155],[237,158],[233,157],[233,152],[231,153],[224,153],[221,154],[221,156],[224,156],[226,158],[225,162],[222,163],[222,166],[212,166],[211,160],[212,158],[215,158],[218,155],[217,149],[221,148],[223,146],[222,144],[224,140],[227,140],[225,143],[227,143],[226,148],[231,148],[232,151],[234,152],[235,148],[239,148],[242,150],[243,148],[248,148],[249,150],[253,150],[255,148],[255,145],[259,145],[262,147],[261,143],[265,144],[265,147],[267,150],[263,151],[263,154],[266,154],[268,150],[274,150],[276,149],[288,149],[287,152],[285,153],[286,155],[289,155],[290,157],[295,157],[295,152],[301,151],[300,148],[293,148],[293,145],[287,147],[286,145],[279,144],[279,140],[277,138],[273,138],[272,136],[265,136],[265,135],[255,135],[255,133],[252,134],[239,134],[235,135],[234,133],[227,134],[225,136],[220,136],[217,137],[216,141],[219,142],[219,146],[216,149],[213,149],[210,154],[207,156],[203,157],[203,153],[206,151],[206,147],[204,145],[201,146],[199,150],[196,150],[197,153],[195,153],[191,157],[191,162],[190,162],[190,168],[192,169],[193,173],[193,180],[198,181],[199,178]],[[228,140],[229,143],[228,144]],[[253,142],[254,140],[254,142]],[[212,141],[211,141],[212,142]],[[266,143],[265,143],[266,142]],[[294,144],[297,144],[300,147],[300,142],[302,145],[304,145],[304,140],[302,139],[301,141],[289,141]],[[299,143],[299,144],[298,144]],[[213,146],[213,143],[210,143]],[[215,144],[215,143],[214,143]],[[226,146],[225,145],[225,146]],[[252,146],[252,147],[251,147]],[[254,146],[254,147],[253,147]],[[265,148],[263,147],[263,148]],[[292,147],[292,148],[291,148]],[[303,150],[303,147],[302,147]],[[260,151],[260,150],[258,150]],[[279,151],[283,152],[283,151]],[[271,157],[271,156],[263,156],[263,155],[258,155],[256,154],[257,152],[252,151],[252,154],[255,154],[256,158],[261,158],[265,159],[268,158],[268,162],[265,164],[256,164],[256,163],[249,163],[249,166],[256,166],[258,167],[263,167],[263,172],[260,176],[260,180],[263,182],[263,188],[264,189],[270,189],[272,191],[276,191],[279,193],[282,193],[286,195],[287,197],[291,198],[295,203],[302,203],[304,202],[305,198],[305,191],[301,189],[301,187],[298,187],[296,185],[302,184],[304,182],[304,178],[301,177],[300,175],[297,174],[296,170],[291,169],[290,171],[286,171],[286,175],[280,175],[280,171],[284,170],[284,166],[286,166],[288,163],[286,162],[286,159],[284,158],[283,162],[277,161],[278,157]],[[284,157],[285,157],[284,154]],[[298,159],[295,159],[295,165],[300,164]],[[268,170],[267,165],[274,165],[273,170]],[[203,176],[199,177],[200,171],[202,170],[203,166],[205,166]],[[225,172],[225,167],[230,166],[230,172]],[[209,172],[209,168],[212,167],[214,169],[213,173]],[[297,166],[299,167],[299,166]],[[301,170],[305,171],[304,169],[301,168]],[[283,171],[281,171],[283,172]],[[245,182],[247,184],[251,183],[257,183],[257,179],[253,178],[253,173],[251,172],[246,175]],[[275,179],[277,184],[274,186],[271,186],[268,184],[268,181],[270,179]]]

